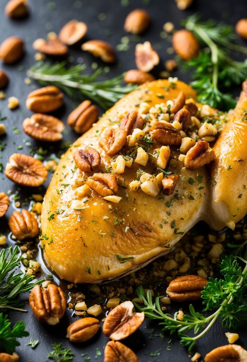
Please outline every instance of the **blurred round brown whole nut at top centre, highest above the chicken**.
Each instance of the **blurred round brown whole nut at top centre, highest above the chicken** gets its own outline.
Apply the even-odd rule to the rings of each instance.
[[[124,23],[124,30],[131,34],[142,34],[150,25],[151,17],[146,10],[135,9],[131,11]]]

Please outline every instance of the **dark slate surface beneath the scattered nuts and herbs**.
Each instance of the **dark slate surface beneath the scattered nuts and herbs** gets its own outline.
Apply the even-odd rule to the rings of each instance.
[[[38,87],[35,82],[32,82],[31,87],[24,83],[26,70],[32,66],[34,61],[35,51],[32,49],[32,43],[35,39],[40,37],[46,37],[46,34],[49,31],[55,31],[58,33],[60,28],[71,19],[78,19],[84,21],[88,25],[88,33],[85,37],[85,40],[88,39],[104,39],[116,46],[120,43],[121,37],[127,35],[123,30],[123,22],[126,15],[137,7],[146,8],[152,16],[152,26],[144,34],[140,41],[150,40],[154,47],[158,50],[161,62],[158,70],[154,71],[154,74],[158,74],[160,70],[163,70],[163,62],[167,59],[172,58],[171,55],[167,54],[167,47],[170,46],[170,43],[167,39],[160,38],[159,34],[162,31],[162,26],[166,21],[174,22],[176,28],[179,28],[180,20],[185,18],[187,15],[193,12],[201,12],[202,17],[206,20],[210,17],[214,17],[217,20],[222,18],[227,18],[227,21],[235,25],[236,21],[239,18],[246,16],[247,14],[247,5],[246,0],[218,0],[218,1],[204,1],[204,0],[194,0],[194,4],[191,9],[181,12],[176,8],[173,0],[166,1],[150,1],[147,4],[145,0],[130,0],[129,6],[123,7],[120,0],[110,1],[110,0],[91,0],[91,1],[75,1],[75,0],[55,0],[55,8],[53,7],[53,2],[47,0],[29,0],[30,3],[30,15],[23,20],[9,20],[4,16],[4,6],[7,3],[6,0],[0,1],[0,42],[5,38],[11,35],[18,35],[25,40],[25,55],[15,65],[5,65],[1,64],[1,68],[8,73],[10,82],[6,89],[7,98],[10,96],[16,96],[20,100],[20,107],[16,110],[10,111],[7,108],[7,99],[0,101],[0,111],[1,116],[7,116],[7,119],[4,121],[7,135],[1,136],[0,142],[7,143],[5,150],[0,152],[0,155],[3,156],[0,162],[5,166],[9,156],[14,152],[23,152],[29,154],[30,147],[37,149],[39,146],[42,146],[44,149],[49,148],[49,152],[58,151],[58,145],[47,145],[36,142],[30,139],[22,131],[22,121],[24,118],[29,117],[32,113],[28,111],[25,107],[25,99],[30,90]],[[98,15],[100,13],[105,13],[105,20],[100,21]],[[109,33],[111,35],[109,35]],[[135,42],[130,43],[130,50],[127,52],[118,52],[118,63],[110,67],[109,76],[118,75],[122,71],[135,68],[134,63],[134,46]],[[73,56],[75,62],[85,62],[88,64],[88,70],[90,71],[90,65],[92,62],[95,62],[93,58],[88,53],[83,53],[80,51],[79,46],[70,47],[69,55]],[[98,64],[102,64],[99,60],[96,60]],[[176,75],[176,73],[175,73]],[[179,75],[180,79],[187,81],[188,75]],[[238,94],[240,90],[236,89],[235,92]],[[65,105],[62,109],[55,113],[55,115],[66,122],[67,115],[74,108],[75,103],[72,102],[67,96],[65,97]],[[13,127],[21,130],[20,134],[16,134],[13,130]],[[67,125],[66,125],[67,127]],[[68,130],[69,134],[64,134],[64,140],[74,141],[76,135],[71,130]],[[31,146],[26,146],[26,141],[30,142]],[[17,147],[22,145],[22,150],[17,150]],[[49,179],[50,180],[50,179]],[[18,188],[11,181],[4,177],[4,174],[0,175],[0,191],[7,192],[8,190],[18,191],[18,194],[21,196],[21,201],[26,197],[30,196],[32,193],[43,193],[46,187],[49,184],[49,180],[37,190],[30,190],[25,188]],[[7,221],[9,216],[13,212],[14,202],[11,203],[9,210],[4,218],[0,219],[0,232],[9,235],[9,230],[7,227]],[[8,241],[8,245],[11,244],[11,241]],[[48,273],[48,272],[47,272]],[[200,303],[194,303],[198,309],[200,309]],[[67,311],[66,315],[60,321],[59,325],[50,327],[45,324],[38,323],[34,318],[32,311],[30,311],[29,304],[27,303],[25,308],[28,310],[27,313],[20,312],[9,312],[9,318],[12,323],[15,323],[17,320],[23,319],[26,323],[26,328],[30,332],[30,336],[22,338],[21,346],[16,349],[20,355],[20,361],[23,362],[44,362],[47,361],[47,353],[51,351],[52,343],[59,343],[62,341],[62,344],[67,348],[72,348],[75,353],[74,361],[80,362],[84,361],[84,358],[81,357],[82,353],[87,353],[91,357],[91,361],[102,362],[104,355],[104,346],[108,341],[108,338],[105,337],[102,332],[98,332],[97,335],[89,342],[85,344],[72,345],[65,338],[66,328],[69,323],[75,320],[74,317],[71,317],[71,313]],[[174,305],[174,310],[178,309],[178,306]],[[183,306],[184,310],[188,310],[188,305]],[[182,348],[179,345],[176,337],[172,337],[171,342],[171,351],[166,349],[170,336],[168,334],[164,335],[164,340],[160,337],[150,337],[151,329],[155,328],[154,333],[159,334],[161,329],[155,325],[155,323],[144,323],[142,327],[136,332],[133,336],[127,338],[124,343],[133,348],[137,353],[138,357],[142,362],[147,361],[164,361],[164,362],[180,362],[180,361],[190,361],[188,357],[188,352],[186,349]],[[226,330],[222,329],[219,322],[215,323],[213,328],[210,330],[206,336],[204,336],[200,341],[197,342],[196,350],[201,353],[202,356],[205,356],[207,352],[213,348],[227,343],[224,333]],[[247,348],[247,332],[246,327],[239,329],[240,339],[237,343]],[[39,339],[39,345],[32,350],[30,346],[26,346],[29,342],[30,337],[33,339]],[[102,355],[95,358],[96,348],[99,348]],[[150,356],[150,353],[153,353],[154,356]]]

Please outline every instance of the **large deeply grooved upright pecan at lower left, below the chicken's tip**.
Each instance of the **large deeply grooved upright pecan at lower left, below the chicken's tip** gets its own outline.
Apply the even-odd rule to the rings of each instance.
[[[29,295],[29,304],[35,317],[42,323],[59,323],[66,310],[66,298],[62,289],[49,284],[47,289],[35,285]]]

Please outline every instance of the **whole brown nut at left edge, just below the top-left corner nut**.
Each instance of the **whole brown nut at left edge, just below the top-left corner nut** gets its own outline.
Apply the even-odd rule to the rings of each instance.
[[[23,55],[24,42],[18,37],[9,37],[0,45],[0,58],[4,63],[17,62]]]

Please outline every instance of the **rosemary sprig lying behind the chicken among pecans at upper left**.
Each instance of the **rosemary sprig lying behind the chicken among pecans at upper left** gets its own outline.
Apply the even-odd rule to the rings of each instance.
[[[98,68],[93,75],[83,74],[86,64],[66,67],[66,61],[53,65],[38,62],[27,71],[27,75],[42,85],[56,85],[74,99],[91,99],[102,108],[108,109],[125,94],[137,88],[135,85],[122,85],[124,73],[112,79],[96,82],[105,72]]]

